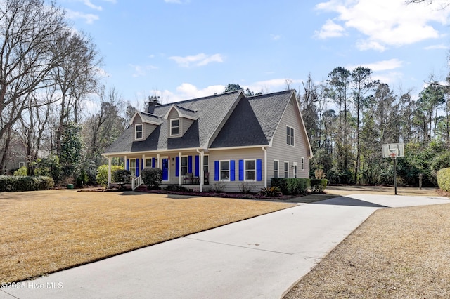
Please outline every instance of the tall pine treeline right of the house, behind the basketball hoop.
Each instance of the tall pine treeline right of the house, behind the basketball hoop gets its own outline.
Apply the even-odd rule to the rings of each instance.
[[[399,184],[417,185],[421,173],[435,185],[436,172],[450,166],[450,90],[437,81],[425,86],[416,96],[396,94],[365,67],[335,67],[321,83],[309,76],[298,99],[314,153],[311,177],[323,169],[333,183],[392,184],[382,145],[404,143]]]

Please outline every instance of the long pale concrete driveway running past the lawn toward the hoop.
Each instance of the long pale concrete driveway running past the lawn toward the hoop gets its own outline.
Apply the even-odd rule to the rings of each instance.
[[[365,194],[300,204],[1,288],[0,298],[281,298],[378,208],[449,203]]]

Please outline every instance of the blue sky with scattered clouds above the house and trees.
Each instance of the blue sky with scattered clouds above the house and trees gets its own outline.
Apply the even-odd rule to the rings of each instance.
[[[450,8],[405,0],[57,0],[103,56],[105,86],[124,100],[162,102],[221,93],[298,90],[308,74],[373,70],[417,95],[449,72]]]

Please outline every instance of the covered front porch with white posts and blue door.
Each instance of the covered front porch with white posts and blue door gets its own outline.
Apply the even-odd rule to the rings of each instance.
[[[204,150],[183,152],[141,152],[106,156],[108,158],[108,187],[112,187],[111,166],[114,157],[124,159],[124,168],[131,172],[131,189],[143,184],[144,168],[162,169],[162,185],[182,185],[187,189],[203,192],[210,184],[209,155]]]

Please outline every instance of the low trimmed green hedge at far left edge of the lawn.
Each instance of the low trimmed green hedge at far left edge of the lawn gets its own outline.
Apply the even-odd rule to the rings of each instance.
[[[0,192],[49,190],[55,186],[47,176],[0,175]]]

